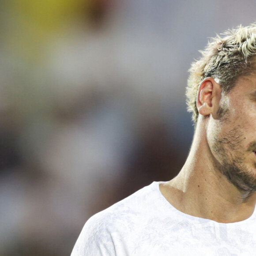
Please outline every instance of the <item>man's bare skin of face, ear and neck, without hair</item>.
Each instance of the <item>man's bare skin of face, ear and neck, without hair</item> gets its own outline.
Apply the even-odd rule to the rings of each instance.
[[[249,218],[256,203],[256,75],[224,94],[211,77],[201,83],[199,119],[181,172],[160,185],[178,210],[229,223]]]

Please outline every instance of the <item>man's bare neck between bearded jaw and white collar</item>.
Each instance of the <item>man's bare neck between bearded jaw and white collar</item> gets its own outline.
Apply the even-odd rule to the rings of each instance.
[[[196,217],[223,223],[249,218],[254,211],[256,193],[236,188],[212,159],[206,136],[197,130],[181,172],[160,187],[162,194],[178,210]]]

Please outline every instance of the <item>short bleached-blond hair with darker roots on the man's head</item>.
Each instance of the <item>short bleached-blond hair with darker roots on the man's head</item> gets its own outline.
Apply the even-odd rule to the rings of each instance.
[[[222,36],[211,38],[205,50],[200,51],[202,57],[189,69],[186,96],[194,123],[198,119],[196,96],[204,78],[217,78],[223,91],[228,93],[240,76],[249,75],[256,68],[252,62],[256,55],[256,23],[227,30]]]

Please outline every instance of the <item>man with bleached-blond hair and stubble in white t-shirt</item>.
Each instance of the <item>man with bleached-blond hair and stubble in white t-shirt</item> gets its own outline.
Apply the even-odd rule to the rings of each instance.
[[[192,64],[188,159],[88,220],[72,256],[256,255],[256,25],[227,31]]]

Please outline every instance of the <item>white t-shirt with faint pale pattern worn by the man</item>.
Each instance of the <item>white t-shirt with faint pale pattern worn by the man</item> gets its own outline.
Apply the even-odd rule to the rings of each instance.
[[[184,214],[159,182],[92,216],[71,256],[256,256],[256,211],[218,223]]]

